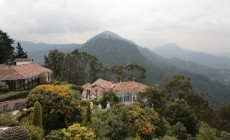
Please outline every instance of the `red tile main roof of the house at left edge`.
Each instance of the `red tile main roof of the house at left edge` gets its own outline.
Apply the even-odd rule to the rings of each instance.
[[[18,80],[38,76],[45,72],[52,72],[35,63],[24,65],[0,65],[0,80]]]

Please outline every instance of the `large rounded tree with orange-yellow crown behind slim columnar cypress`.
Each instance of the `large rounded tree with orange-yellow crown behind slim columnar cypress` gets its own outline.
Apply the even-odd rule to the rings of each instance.
[[[40,85],[27,96],[27,107],[32,107],[36,101],[42,105],[45,129],[66,127],[66,117],[71,103],[69,89],[61,85]]]

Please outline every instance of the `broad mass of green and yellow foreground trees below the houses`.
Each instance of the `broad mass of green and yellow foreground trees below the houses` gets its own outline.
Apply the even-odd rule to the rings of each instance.
[[[34,88],[29,110],[9,124],[23,126],[32,139],[230,139],[230,105],[213,108],[192,88],[189,78],[177,74],[163,88],[147,88],[137,102],[125,105],[113,91],[82,100],[82,88],[55,82]],[[108,101],[111,107],[102,109]]]

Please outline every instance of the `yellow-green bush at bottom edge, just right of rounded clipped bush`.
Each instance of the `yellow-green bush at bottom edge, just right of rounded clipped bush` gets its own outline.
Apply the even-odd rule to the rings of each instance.
[[[44,130],[39,126],[26,125],[32,140],[44,140]]]

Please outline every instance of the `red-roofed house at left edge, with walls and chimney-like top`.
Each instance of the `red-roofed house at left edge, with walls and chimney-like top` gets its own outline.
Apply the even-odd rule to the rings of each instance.
[[[52,71],[33,62],[31,58],[18,58],[12,64],[0,64],[0,82],[10,90],[30,89],[51,81]]]

